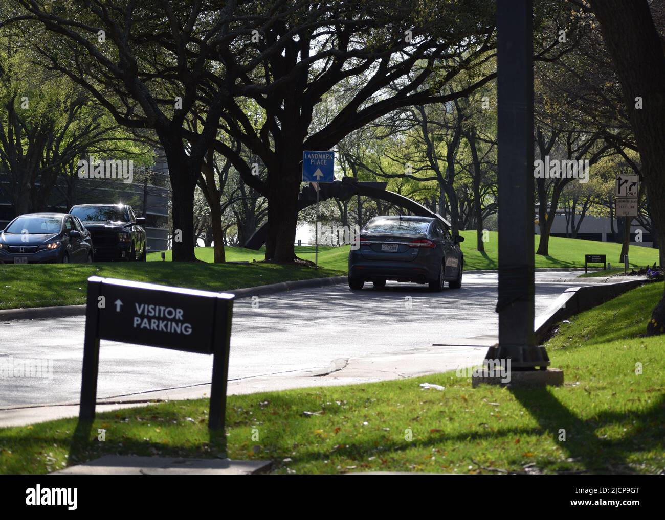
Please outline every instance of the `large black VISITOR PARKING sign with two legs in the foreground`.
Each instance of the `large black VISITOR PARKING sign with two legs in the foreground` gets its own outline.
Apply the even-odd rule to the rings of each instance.
[[[224,428],[233,294],[88,278],[78,418],[94,419],[99,341],[213,355],[208,428]]]

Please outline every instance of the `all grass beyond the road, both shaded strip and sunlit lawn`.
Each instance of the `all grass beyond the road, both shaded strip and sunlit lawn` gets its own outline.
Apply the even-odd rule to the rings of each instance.
[[[485,252],[475,249],[475,232],[463,231],[465,242],[464,269],[496,269],[498,235],[489,233],[489,241],[485,242]],[[538,237],[536,237],[537,246]],[[550,242],[551,256],[535,255],[535,266],[549,268],[584,267],[585,254],[606,254],[607,258],[618,258],[621,246],[609,242],[593,242],[574,238],[552,237]],[[297,246],[296,254],[300,258],[314,260],[313,246]],[[205,289],[211,291],[231,290],[241,287],[259,286],[285,282],[287,280],[303,280],[345,274],[348,266],[349,246],[320,246],[319,266],[323,269],[299,268],[291,266],[274,266],[260,264],[263,250],[255,251],[245,248],[225,248],[228,261],[247,260],[256,264],[212,264],[212,248],[196,248],[196,256],[205,264],[173,264],[161,262],[160,253],[148,254],[148,262],[99,263],[90,265],[70,264],[1,266],[0,265],[0,309],[18,307],[47,307],[51,305],[75,305],[84,303],[88,276],[108,276],[125,280],[139,280],[155,284],[174,285]],[[166,260],[171,260],[171,252],[166,252]],[[658,250],[630,246],[631,266],[651,265],[658,260]],[[603,276],[599,274],[597,276]]]

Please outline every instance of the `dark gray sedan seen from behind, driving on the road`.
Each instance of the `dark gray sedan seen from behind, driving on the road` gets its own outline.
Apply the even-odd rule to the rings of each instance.
[[[462,287],[463,236],[450,236],[439,218],[374,217],[360,231],[360,247],[348,254],[348,286],[360,290],[365,282],[382,288],[386,280],[429,284],[442,291]]]

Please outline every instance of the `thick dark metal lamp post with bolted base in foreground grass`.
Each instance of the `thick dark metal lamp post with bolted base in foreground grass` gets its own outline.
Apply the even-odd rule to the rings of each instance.
[[[533,331],[532,17],[532,0],[497,2],[499,343],[487,351],[485,365],[510,360],[512,371],[545,370],[550,363]]]

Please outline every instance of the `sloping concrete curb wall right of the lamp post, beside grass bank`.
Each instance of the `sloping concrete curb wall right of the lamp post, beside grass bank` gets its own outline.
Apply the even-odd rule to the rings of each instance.
[[[656,280],[640,278],[614,284],[597,283],[591,286],[571,287],[565,290],[544,313],[536,318],[534,329],[537,343],[543,341],[555,323],[649,282]]]

